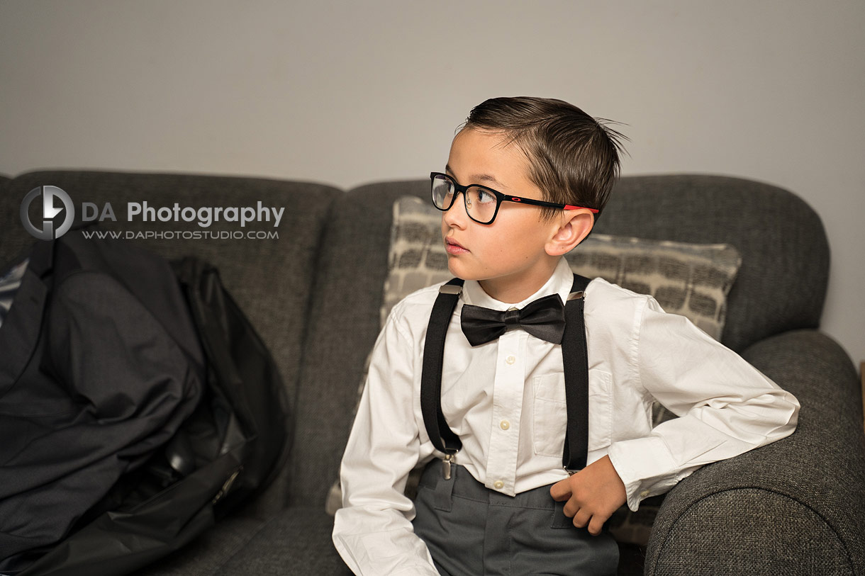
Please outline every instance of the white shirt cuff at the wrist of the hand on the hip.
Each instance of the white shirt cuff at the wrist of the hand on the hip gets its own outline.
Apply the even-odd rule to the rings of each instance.
[[[676,485],[676,460],[662,438],[647,436],[615,442],[607,456],[625,483],[628,508],[634,512],[645,498],[663,494]]]

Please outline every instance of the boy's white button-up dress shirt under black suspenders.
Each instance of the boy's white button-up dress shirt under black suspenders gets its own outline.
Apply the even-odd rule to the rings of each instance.
[[[463,443],[456,457],[478,482],[510,496],[567,477],[567,411],[561,345],[509,330],[472,348],[460,329],[463,304],[522,308],[567,299],[573,275],[561,259],[541,289],[518,304],[466,281],[445,339],[441,406]],[[343,508],[333,541],[362,576],[438,574],[413,533],[408,473],[443,458],[420,413],[426,325],[439,285],[413,292],[391,311],[369,367],[343,455]],[[685,317],[654,298],[601,278],[586,288],[589,363],[588,464],[609,455],[632,510],[702,466],[793,432],[796,398]],[[681,418],[651,426],[651,403]]]

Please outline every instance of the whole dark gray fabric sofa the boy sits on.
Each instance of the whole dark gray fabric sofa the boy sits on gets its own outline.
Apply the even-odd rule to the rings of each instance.
[[[19,221],[30,189],[51,184],[74,202],[284,206],[279,240],[142,240],[166,257],[195,254],[270,346],[292,399],[291,454],[264,494],[140,574],[347,574],[324,513],[351,426],[357,385],[379,326],[391,205],[426,197],[426,181],[345,192],[247,177],[42,171],[0,179],[0,260],[33,239]],[[105,222],[118,230],[195,229]],[[226,228],[227,229],[227,228]],[[670,491],[649,546],[623,547],[621,573],[865,573],[865,437],[857,374],[818,330],[829,246],[796,195],[721,176],[631,176],[596,230],[698,243],[742,255],[722,342],[802,404],[791,437],[710,464]],[[478,575],[479,576],[479,575]]]

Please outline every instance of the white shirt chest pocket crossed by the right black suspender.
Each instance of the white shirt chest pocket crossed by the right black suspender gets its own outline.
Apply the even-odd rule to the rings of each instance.
[[[565,449],[567,404],[565,374],[547,374],[532,382],[532,442],[535,454],[561,458]],[[612,442],[612,374],[589,370],[589,451]]]

